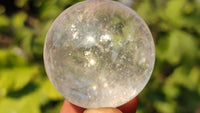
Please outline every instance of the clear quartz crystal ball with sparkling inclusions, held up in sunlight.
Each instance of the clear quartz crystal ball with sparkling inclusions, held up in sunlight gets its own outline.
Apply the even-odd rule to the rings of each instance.
[[[145,22],[111,0],[84,1],[63,11],[44,45],[50,81],[84,108],[117,107],[133,99],[147,84],[154,61]]]

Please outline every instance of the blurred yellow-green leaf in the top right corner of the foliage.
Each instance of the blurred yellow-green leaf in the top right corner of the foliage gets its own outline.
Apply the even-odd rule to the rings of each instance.
[[[170,0],[165,11],[160,13],[161,18],[168,26],[172,25],[172,29],[184,27],[198,31],[200,28],[198,4],[190,0]]]

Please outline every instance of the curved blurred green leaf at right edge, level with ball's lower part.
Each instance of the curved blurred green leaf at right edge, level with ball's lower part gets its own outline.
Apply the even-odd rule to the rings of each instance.
[[[180,66],[167,78],[163,92],[168,98],[174,99],[181,95],[180,87],[194,91],[199,83],[199,67],[193,67],[191,70],[188,70],[187,67]]]

